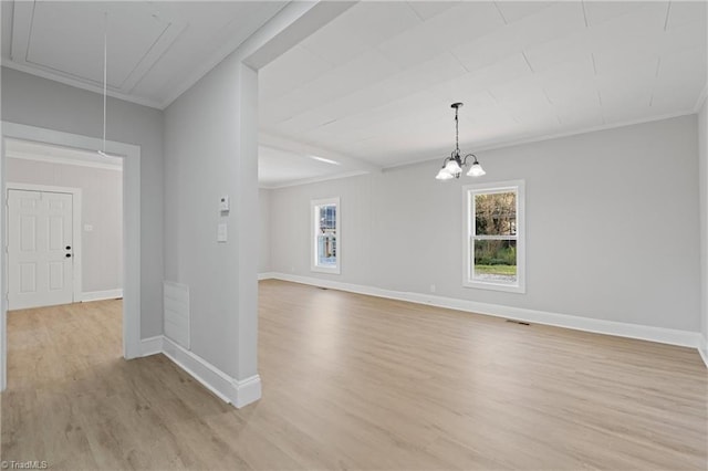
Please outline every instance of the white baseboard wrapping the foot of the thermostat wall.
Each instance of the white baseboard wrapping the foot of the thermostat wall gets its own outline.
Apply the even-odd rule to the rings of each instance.
[[[221,400],[239,409],[261,398],[260,376],[253,375],[242,380],[231,378],[199,355],[164,335],[144,338],[140,350],[143,356],[164,354]]]

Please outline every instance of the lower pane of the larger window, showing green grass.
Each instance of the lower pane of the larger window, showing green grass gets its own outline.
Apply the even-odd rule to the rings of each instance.
[[[473,279],[492,283],[517,283],[517,241],[475,240]]]

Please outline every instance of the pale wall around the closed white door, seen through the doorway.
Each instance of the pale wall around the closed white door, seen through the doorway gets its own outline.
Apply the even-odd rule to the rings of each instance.
[[[123,289],[123,172],[77,165],[6,159],[6,181],[81,188],[82,292]]]

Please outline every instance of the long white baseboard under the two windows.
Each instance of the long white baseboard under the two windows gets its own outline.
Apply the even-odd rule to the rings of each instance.
[[[437,307],[447,307],[451,310],[486,314],[496,317],[513,318],[532,324],[553,325],[556,327],[572,328],[575,331],[615,335],[618,337],[638,338],[643,341],[658,342],[662,344],[679,345],[684,347],[699,348],[700,345],[701,336],[697,332],[677,331],[673,328],[604,321],[569,314],[558,314],[544,311],[527,310],[522,307],[504,306],[500,304],[479,303],[476,301],[458,300],[454,297],[444,297],[430,294],[383,290],[374,286],[342,283],[337,281],[292,275],[287,273],[271,273],[271,275],[272,276],[270,278],[275,280],[330,287],[333,290],[348,291],[352,293],[366,294],[369,296],[408,301],[417,304],[429,304]]]

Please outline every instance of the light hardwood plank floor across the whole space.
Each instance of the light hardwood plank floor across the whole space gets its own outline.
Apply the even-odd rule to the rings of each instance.
[[[2,460],[52,469],[707,468],[696,350],[260,283],[263,397],[121,358],[121,302],[9,313]]]

